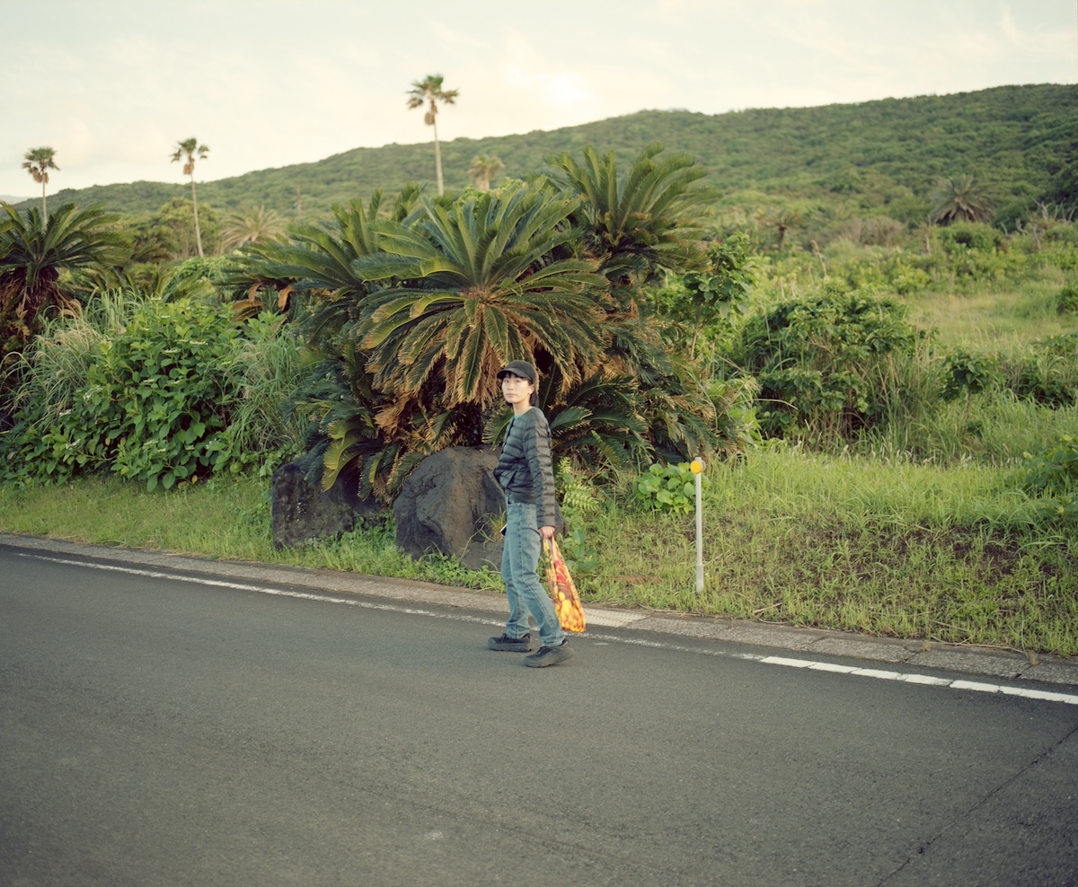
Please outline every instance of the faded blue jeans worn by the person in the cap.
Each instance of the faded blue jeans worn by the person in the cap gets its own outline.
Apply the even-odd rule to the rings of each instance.
[[[511,638],[526,635],[530,629],[530,612],[539,626],[539,642],[543,647],[557,647],[565,640],[565,632],[536,572],[542,551],[542,537],[536,522],[534,503],[506,503],[506,544],[501,553],[501,578],[509,598],[506,634]]]

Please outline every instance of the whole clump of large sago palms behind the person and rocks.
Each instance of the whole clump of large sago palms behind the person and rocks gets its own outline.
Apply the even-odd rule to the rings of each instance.
[[[425,455],[496,440],[496,374],[535,362],[555,452],[632,467],[741,446],[737,385],[713,385],[664,346],[644,283],[703,261],[690,157],[612,154],[457,199],[402,194],[335,210],[289,244],[253,248],[250,279],[306,293],[312,350],[299,408],[317,429],[322,482],[354,472],[391,496]]]

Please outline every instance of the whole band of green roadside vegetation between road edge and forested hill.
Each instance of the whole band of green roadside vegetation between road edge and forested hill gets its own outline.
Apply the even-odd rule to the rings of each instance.
[[[498,440],[523,357],[585,602],[1078,655],[1078,195],[1065,165],[1011,175],[827,218],[589,148],[185,259],[178,232],[222,236],[202,189],[199,233],[182,202],[175,227],[10,209],[0,529],[498,590],[401,555],[388,509],[275,551],[270,476],[314,454],[388,505]]]

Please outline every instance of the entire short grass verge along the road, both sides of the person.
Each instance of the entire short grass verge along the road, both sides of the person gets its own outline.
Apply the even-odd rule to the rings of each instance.
[[[1078,655],[1074,529],[1031,526],[999,470],[774,449],[714,467],[707,479],[703,594],[693,517],[613,497],[582,526],[592,549],[577,576],[586,602]],[[5,488],[0,529],[501,587],[496,574],[454,558],[402,555],[391,522],[276,551],[265,487],[240,479],[146,494],[88,479]]]

